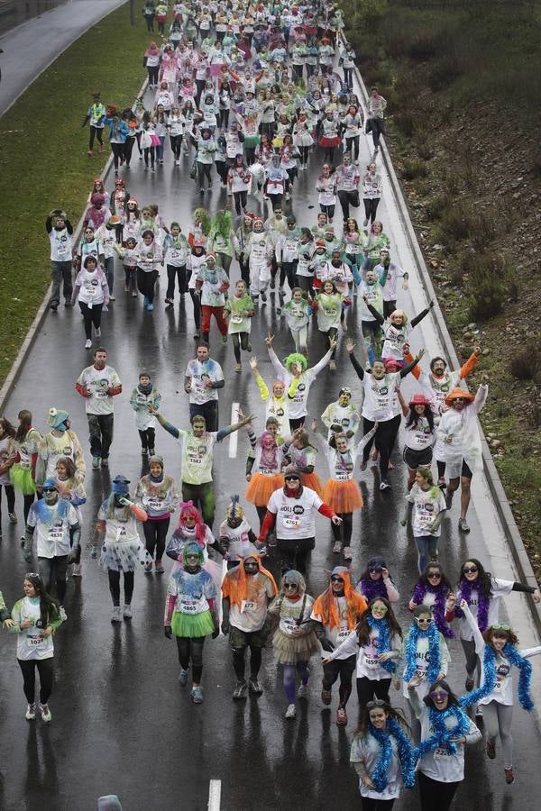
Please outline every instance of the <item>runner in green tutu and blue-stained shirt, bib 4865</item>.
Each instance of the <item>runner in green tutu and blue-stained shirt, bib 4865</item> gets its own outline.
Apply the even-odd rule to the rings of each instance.
[[[163,631],[167,639],[173,634],[179,652],[179,684],[188,684],[191,663],[194,704],[203,703],[200,681],[203,673],[203,645],[207,636],[220,633],[220,619],[215,582],[203,569],[203,550],[198,543],[187,543],[182,552],[182,565],[171,571],[167,588]]]

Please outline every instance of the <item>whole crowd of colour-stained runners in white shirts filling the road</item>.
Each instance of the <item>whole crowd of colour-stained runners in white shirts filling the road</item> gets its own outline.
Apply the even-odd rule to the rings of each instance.
[[[518,703],[530,710],[528,660],[541,646],[519,650],[516,633],[500,622],[501,598],[514,591],[531,592],[536,602],[541,596],[493,577],[481,560],[463,560],[454,578],[438,560],[445,515],[458,514],[459,532],[470,532],[470,487],[481,470],[477,415],[488,378],[482,376],[474,394],[460,386],[478,362],[479,347],[455,370],[441,357],[410,351],[410,334],[433,302],[417,314],[397,308],[408,273],[394,261],[394,246],[377,219],[386,101],[375,87],[364,105],[353,92],[355,54],[342,39],[340,10],[326,0],[291,6],[148,2],[142,14],[150,35],[157,34],[143,55],[151,94],[125,110],[104,105],[96,94],[83,122],[89,124],[89,157],[96,141],[105,150],[107,132],[114,187],[107,190],[96,178],[77,240],[61,208],[46,220],[50,308],[57,311],[62,299],[78,304],[92,351],[87,368],[74,369],[89,456],[60,407],[61,393],[47,415],[48,433],[34,427],[27,404],[0,419],[3,520],[23,518],[24,560],[37,562],[11,612],[0,593],[0,618],[17,639],[26,718],[51,720],[54,634],[67,621],[69,633],[67,579],[81,578],[83,566],[91,565],[82,562],[85,522],[95,524],[90,558],[99,557],[107,572],[113,624],[132,619],[135,571],[161,576],[166,559],[173,561],[163,627],[177,644],[179,685],[195,704],[204,700],[204,656],[214,653],[206,639],[220,632],[230,642],[235,700],[261,695],[261,661],[271,641],[267,655],[281,666],[287,719],[295,718],[298,699],[307,698],[308,679],[320,678],[325,706],[338,682],[336,724],[347,724],[355,676],[359,723],[351,761],[365,811],[390,808],[401,788],[416,782],[424,811],[449,808],[463,779],[464,748],[481,740],[481,722],[487,756],[495,758],[501,746],[505,779],[512,783],[513,674]],[[363,166],[360,140],[369,132],[372,157]],[[164,161],[167,149],[171,161]],[[294,213],[298,174],[308,165],[316,167],[320,209],[311,220]],[[192,221],[165,223],[157,205],[131,196],[127,168],[132,174],[170,169],[179,184],[195,181],[201,205]],[[205,201],[215,180],[227,189],[228,205],[212,213]],[[168,284],[163,305],[188,294],[193,307],[195,357],[184,378],[188,425],[170,423],[156,381],[142,371],[129,405],[148,472],[135,482],[113,471],[110,496],[97,515],[88,515],[87,461],[92,470],[109,466],[115,396],[123,392],[102,346],[102,314],[123,283],[124,295],[142,296],[152,312],[162,267]],[[281,362],[274,335],[267,334],[274,374],[264,379],[251,331],[271,291],[269,304],[276,299],[291,351]],[[353,321],[361,327],[357,345],[347,336]],[[237,378],[211,356],[215,330],[233,344],[234,373],[243,372],[247,355],[263,430],[242,411],[234,424],[219,426],[220,389]],[[309,344],[317,332],[326,334],[327,351],[312,359]],[[360,380],[360,402],[350,387],[341,387],[319,421],[307,420],[310,389],[323,369],[336,368],[342,333],[353,378]],[[408,375],[415,392],[405,398],[400,383]],[[353,515],[363,507],[356,478],[375,462],[381,491],[392,493],[390,456],[400,426],[408,488],[401,524],[411,524],[418,562],[411,595],[399,594],[377,548],[361,573],[349,568]],[[179,481],[156,451],[162,429],[179,442]],[[246,449],[245,481],[234,486],[238,493],[220,521],[214,454],[216,443],[236,431]],[[255,506],[255,522],[247,504]],[[317,514],[330,522],[336,565],[326,590],[313,597],[307,573],[309,579]],[[411,612],[404,628],[394,612],[400,600]],[[447,640],[455,636],[464,653],[460,696],[446,680]],[[406,699],[408,720],[395,706],[391,684]]]

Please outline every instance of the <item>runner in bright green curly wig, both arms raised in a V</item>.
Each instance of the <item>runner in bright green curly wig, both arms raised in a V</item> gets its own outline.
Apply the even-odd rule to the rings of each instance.
[[[317,375],[322,369],[325,369],[326,364],[331,360],[332,354],[335,351],[336,340],[335,338],[329,339],[329,349],[323,358],[316,363],[311,369],[307,369],[307,359],[300,352],[292,352],[284,359],[284,364],[280,363],[276,352],[272,349],[272,341],[274,335],[269,333],[265,338],[265,344],[269,350],[269,357],[271,358],[272,366],[274,367],[280,380],[283,380],[288,390],[289,400],[289,427],[291,433],[296,428],[304,425],[307,416],[307,400],[310,392],[310,386],[316,379]]]

